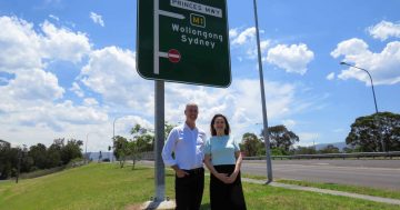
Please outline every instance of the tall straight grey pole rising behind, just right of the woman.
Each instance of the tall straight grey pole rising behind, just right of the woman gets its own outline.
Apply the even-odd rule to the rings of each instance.
[[[260,48],[260,34],[258,28],[258,14],[257,14],[257,0],[253,0],[254,4],[254,19],[256,19],[256,34],[257,34],[257,50],[258,50],[258,61],[259,61],[259,73],[260,73],[260,89],[261,89],[261,103],[262,103],[262,122],[263,122],[263,138],[266,144],[266,159],[267,159],[267,177],[268,182],[272,182],[272,163],[271,163],[271,151],[270,151],[270,139],[268,132],[268,120],[267,120],[267,106],[266,106],[266,93],[263,84],[263,73],[262,73],[262,60],[261,60],[261,48]]]

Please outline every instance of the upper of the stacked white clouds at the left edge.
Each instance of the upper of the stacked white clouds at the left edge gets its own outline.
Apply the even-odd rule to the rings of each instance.
[[[56,28],[44,21],[43,34],[14,17],[0,17],[0,71],[44,69],[50,60],[79,62],[90,51],[86,34]]]

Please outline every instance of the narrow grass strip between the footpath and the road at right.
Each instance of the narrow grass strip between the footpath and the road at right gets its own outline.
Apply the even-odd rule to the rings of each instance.
[[[243,174],[243,177],[250,178],[250,179],[267,180],[267,177],[264,177],[264,176]],[[337,191],[343,191],[343,192],[353,192],[353,193],[359,193],[359,194],[367,194],[367,196],[374,196],[374,197],[382,197],[382,198],[400,199],[400,191],[394,191],[394,190],[383,190],[383,189],[368,188],[368,187],[360,187],[360,186],[321,183],[321,182],[286,180],[286,179],[278,179],[274,181],[280,182],[280,183],[289,183],[289,184],[303,186],[303,187],[337,190]]]

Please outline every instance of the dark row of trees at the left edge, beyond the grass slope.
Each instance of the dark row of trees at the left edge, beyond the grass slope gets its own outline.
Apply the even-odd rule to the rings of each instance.
[[[49,148],[42,143],[28,148],[11,147],[9,142],[0,140],[0,179],[66,166],[71,160],[82,158],[82,144],[81,140],[62,138],[53,140]]]

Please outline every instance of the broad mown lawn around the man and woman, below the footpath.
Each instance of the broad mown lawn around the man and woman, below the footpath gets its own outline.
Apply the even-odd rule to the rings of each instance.
[[[166,170],[166,194],[173,198],[173,171]],[[153,169],[116,164],[97,164],[64,170],[50,176],[0,182],[0,209],[110,210],[142,203],[154,192]],[[203,210],[209,209],[209,177],[206,177]],[[248,209],[399,209],[399,206],[377,203],[346,197],[287,190],[243,182]]]

